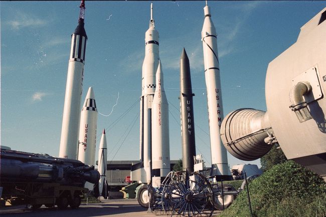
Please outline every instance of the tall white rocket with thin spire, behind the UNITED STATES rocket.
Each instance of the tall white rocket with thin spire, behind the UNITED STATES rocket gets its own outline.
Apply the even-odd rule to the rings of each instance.
[[[155,93],[155,73],[158,66],[158,32],[155,30],[153,6],[150,5],[149,28],[145,33],[145,58],[142,64],[140,97],[140,161],[143,162],[145,177],[142,182],[150,180],[151,160],[151,108]]]

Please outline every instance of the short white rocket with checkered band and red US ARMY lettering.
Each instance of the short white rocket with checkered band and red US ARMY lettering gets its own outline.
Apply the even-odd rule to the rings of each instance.
[[[96,148],[97,109],[92,87],[89,87],[80,115],[78,160],[94,165]]]

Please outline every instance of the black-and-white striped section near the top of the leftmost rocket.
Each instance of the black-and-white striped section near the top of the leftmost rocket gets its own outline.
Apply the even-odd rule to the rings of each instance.
[[[72,35],[72,50],[69,62],[77,61],[85,64],[86,37]]]

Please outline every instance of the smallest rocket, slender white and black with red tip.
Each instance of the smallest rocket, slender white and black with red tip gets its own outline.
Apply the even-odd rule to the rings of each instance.
[[[100,192],[100,195],[103,192],[103,186],[105,188],[106,183],[106,158],[107,158],[107,145],[106,145],[106,135],[105,135],[105,129],[103,129],[101,141],[100,141],[100,147],[98,150],[98,172],[100,173],[100,180],[98,181],[98,189]],[[106,192],[106,190],[105,190]],[[105,193],[102,196],[106,196]]]

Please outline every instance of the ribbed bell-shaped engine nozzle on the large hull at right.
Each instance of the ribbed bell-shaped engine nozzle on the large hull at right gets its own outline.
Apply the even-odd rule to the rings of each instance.
[[[241,160],[256,160],[276,142],[268,113],[256,109],[238,109],[229,113],[221,125],[225,148]]]

